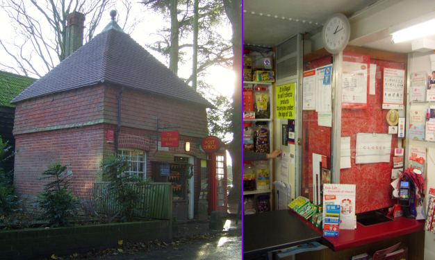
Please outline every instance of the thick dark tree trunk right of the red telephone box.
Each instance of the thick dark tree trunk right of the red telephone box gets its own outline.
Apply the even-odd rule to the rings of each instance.
[[[231,21],[233,30],[233,71],[236,76],[233,94],[233,141],[230,154],[233,162],[233,198],[241,198],[242,192],[242,3],[241,0],[223,0],[225,12]]]

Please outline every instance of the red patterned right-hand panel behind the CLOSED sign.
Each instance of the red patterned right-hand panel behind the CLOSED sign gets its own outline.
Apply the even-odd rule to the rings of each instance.
[[[382,76],[384,67],[406,69],[405,64],[371,60],[376,64],[376,94],[369,95],[367,110],[341,110],[341,136],[350,137],[352,168],[340,171],[340,183],[356,184],[356,213],[366,212],[393,205],[391,200],[391,168],[393,168],[394,148],[397,135],[391,141],[389,163],[355,164],[356,133],[388,133],[386,114],[382,110]]]

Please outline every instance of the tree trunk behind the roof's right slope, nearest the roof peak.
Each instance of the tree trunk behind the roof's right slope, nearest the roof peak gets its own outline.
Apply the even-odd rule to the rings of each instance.
[[[178,73],[178,60],[179,60],[179,20],[178,14],[178,0],[170,0],[170,15],[171,15],[171,47],[169,53],[169,69]]]

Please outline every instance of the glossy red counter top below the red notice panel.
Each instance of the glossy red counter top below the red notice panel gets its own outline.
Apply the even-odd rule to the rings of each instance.
[[[418,232],[423,229],[425,222],[413,218],[395,218],[394,220],[375,225],[364,226],[356,223],[356,229],[340,229],[338,237],[323,237],[323,243],[334,251],[354,248],[377,241],[391,239]]]

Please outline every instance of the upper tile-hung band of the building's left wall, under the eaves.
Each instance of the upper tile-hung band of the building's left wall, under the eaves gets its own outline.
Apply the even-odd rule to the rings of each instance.
[[[85,87],[17,104],[14,135],[101,123],[104,86]]]

